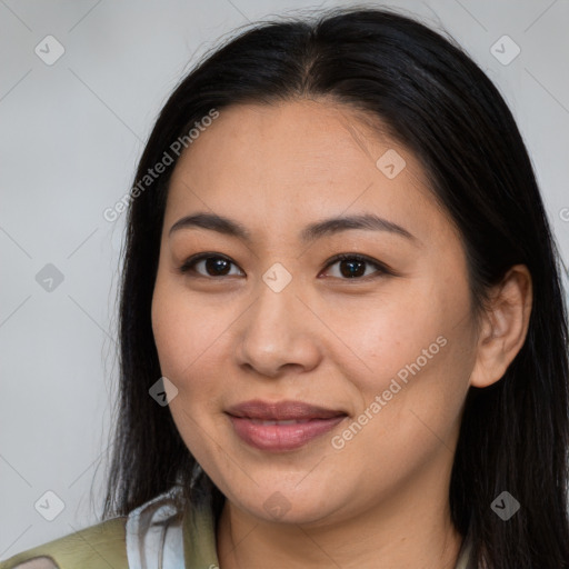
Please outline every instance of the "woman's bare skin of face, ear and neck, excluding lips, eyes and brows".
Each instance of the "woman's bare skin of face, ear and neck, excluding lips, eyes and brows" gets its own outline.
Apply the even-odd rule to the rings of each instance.
[[[407,166],[376,166],[396,149]],[[202,228],[169,236],[180,218],[232,218],[251,243]],[[347,230],[309,244],[309,223],[376,213],[415,236]],[[222,276],[192,254],[228,258]],[[328,266],[360,253],[357,278]],[[280,292],[262,276],[281,263]],[[462,242],[409,151],[329,100],[234,106],[182,154],[167,200],[152,326],[170,402],[189,450],[228,498],[217,528],[220,567],[455,567],[462,537],[448,488],[470,386],[498,381],[521,348],[531,279],[513,267],[477,325]],[[346,274],[347,271],[345,271]],[[226,274],[226,276],[223,276]],[[399,370],[447,343],[341,449],[341,435]],[[399,382],[401,383],[401,382]],[[345,410],[332,431],[298,450],[244,443],[224,410],[250,399]],[[277,495],[276,492],[280,492]],[[271,498],[272,496],[272,498]],[[263,505],[279,501],[279,518]]]

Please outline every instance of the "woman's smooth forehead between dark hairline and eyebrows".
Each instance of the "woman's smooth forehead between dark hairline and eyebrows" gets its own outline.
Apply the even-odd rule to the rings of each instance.
[[[178,160],[167,223],[198,209],[288,226],[345,211],[403,226],[436,216],[419,162],[365,118],[313,100],[220,110]]]

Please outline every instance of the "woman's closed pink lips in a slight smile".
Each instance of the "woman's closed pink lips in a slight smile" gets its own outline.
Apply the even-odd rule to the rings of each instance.
[[[298,449],[347,417],[345,411],[301,401],[246,401],[229,408],[227,413],[244,442],[269,451]]]

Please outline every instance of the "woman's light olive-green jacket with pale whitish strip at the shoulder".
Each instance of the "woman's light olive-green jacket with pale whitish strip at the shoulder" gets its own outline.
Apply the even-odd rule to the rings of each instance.
[[[0,561],[0,569],[218,569],[210,497],[180,513],[172,507],[174,491],[150,500],[129,516]],[[469,552],[470,545],[465,540],[456,569],[469,569]]]

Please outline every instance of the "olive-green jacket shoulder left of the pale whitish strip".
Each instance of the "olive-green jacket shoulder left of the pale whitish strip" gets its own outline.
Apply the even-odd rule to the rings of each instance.
[[[127,569],[126,522],[118,517],[28,549],[0,569]]]

